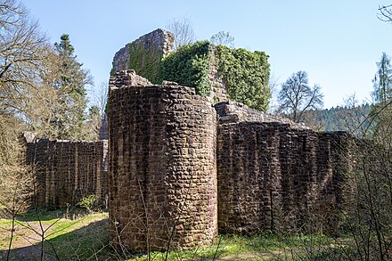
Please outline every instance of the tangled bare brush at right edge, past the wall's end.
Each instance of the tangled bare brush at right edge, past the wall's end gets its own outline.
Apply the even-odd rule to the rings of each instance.
[[[356,142],[352,176],[355,204],[347,213],[347,224],[355,242],[355,257],[361,260],[392,257],[391,104],[375,107],[377,111],[368,117],[371,125],[357,129],[367,139]]]

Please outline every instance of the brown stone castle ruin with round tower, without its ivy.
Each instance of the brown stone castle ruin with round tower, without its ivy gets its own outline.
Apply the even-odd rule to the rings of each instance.
[[[107,180],[86,175],[82,182],[76,171],[83,164],[102,169],[89,162],[103,159],[104,142],[94,143],[99,155],[85,163],[78,161],[81,144],[28,146],[35,162],[47,166],[41,201],[72,201],[53,195],[75,194],[78,184],[94,180],[101,194],[109,191],[110,241],[133,252],[189,249],[215,241],[218,232],[284,230],[314,220],[323,230],[335,230],[337,213],[347,202],[352,138],[344,132],[315,132],[228,101],[222,85],[214,91],[220,95],[215,103],[191,87],[151,84],[129,66],[131,46],[153,48],[163,57],[171,52],[173,39],[158,29],[114,56]],[[215,78],[214,69],[210,72]],[[215,78],[214,88],[218,82]],[[46,159],[53,146],[59,152]],[[64,159],[64,151],[75,156]],[[51,163],[54,159],[59,163]],[[69,183],[59,188],[60,178],[53,173],[66,165],[73,166],[62,174],[69,175]]]

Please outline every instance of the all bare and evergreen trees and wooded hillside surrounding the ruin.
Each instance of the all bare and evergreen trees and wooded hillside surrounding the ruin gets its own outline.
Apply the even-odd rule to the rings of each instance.
[[[87,90],[93,81],[78,61],[69,35],[49,43],[18,1],[4,0],[0,10],[0,212],[10,217],[13,227],[16,217],[30,207],[29,197],[35,192],[34,170],[24,162],[20,133],[30,130],[49,138],[96,139],[106,94],[101,95],[103,102],[87,108]],[[392,21],[391,5],[380,7],[380,15]],[[219,41],[214,37],[216,45],[230,40],[221,35]],[[282,84],[285,93],[280,102],[285,107],[280,113],[318,129],[347,130],[363,138],[357,145],[364,149],[358,151],[355,168],[349,173],[355,204],[350,212],[341,213],[346,223],[340,232],[348,240],[339,255],[352,260],[390,260],[392,256],[392,69],[388,55],[383,53],[377,65],[372,105],[357,106],[353,101],[347,107],[321,110],[320,88],[307,86],[301,71]],[[312,103],[314,97],[319,102]],[[372,146],[364,146],[369,141]]]

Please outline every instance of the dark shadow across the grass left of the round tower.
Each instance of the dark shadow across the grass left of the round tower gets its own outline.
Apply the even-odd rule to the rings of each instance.
[[[59,232],[44,243],[44,260],[108,260],[117,259],[109,247],[108,218],[95,221],[71,232]],[[72,224],[69,226],[72,229]],[[50,234],[50,232],[49,232]],[[56,235],[59,234],[59,235]],[[28,247],[12,249],[10,260],[40,260],[42,244],[25,235]],[[0,260],[5,260],[7,251],[0,251]],[[113,256],[114,257],[114,256]]]

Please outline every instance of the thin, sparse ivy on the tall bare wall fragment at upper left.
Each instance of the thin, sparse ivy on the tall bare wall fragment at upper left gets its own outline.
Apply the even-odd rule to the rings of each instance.
[[[155,48],[144,48],[143,45],[136,45],[135,42],[129,45],[129,68],[135,69],[135,72],[147,78],[152,84],[160,85],[160,63],[162,52]]]

